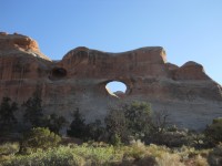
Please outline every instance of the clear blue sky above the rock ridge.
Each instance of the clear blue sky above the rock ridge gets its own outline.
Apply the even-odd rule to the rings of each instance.
[[[0,31],[37,40],[60,60],[80,45],[109,52],[163,46],[222,84],[222,0],[0,0]]]

